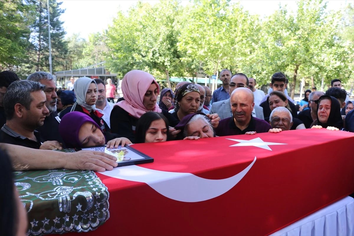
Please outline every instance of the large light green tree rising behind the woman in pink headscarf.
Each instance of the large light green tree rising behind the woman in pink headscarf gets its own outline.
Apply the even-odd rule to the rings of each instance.
[[[154,6],[138,2],[128,16],[118,12],[106,32],[108,67],[121,74],[132,69],[156,69],[166,75],[171,87],[171,71],[181,70],[181,53],[177,50],[181,13],[177,1],[161,1]]]

